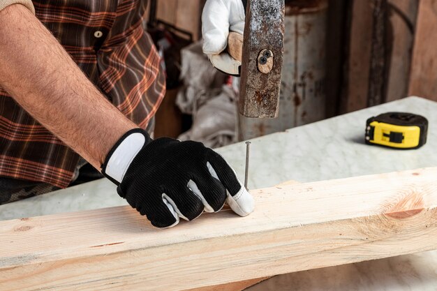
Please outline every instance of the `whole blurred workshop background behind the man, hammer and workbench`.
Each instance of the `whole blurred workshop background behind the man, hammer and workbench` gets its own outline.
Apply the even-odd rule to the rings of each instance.
[[[155,137],[221,147],[411,95],[437,100],[437,1],[286,1],[278,119],[237,113],[238,80],[202,54],[204,4],[149,3],[168,88]]]

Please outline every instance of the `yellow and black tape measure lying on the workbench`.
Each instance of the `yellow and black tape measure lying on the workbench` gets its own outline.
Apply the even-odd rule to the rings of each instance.
[[[427,142],[428,120],[420,115],[387,112],[366,122],[366,144],[417,149]]]

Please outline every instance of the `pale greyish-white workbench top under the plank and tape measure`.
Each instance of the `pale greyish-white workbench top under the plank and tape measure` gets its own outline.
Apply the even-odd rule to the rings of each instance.
[[[364,144],[366,119],[390,111],[427,117],[427,144],[403,151]],[[409,97],[251,140],[249,188],[437,166],[436,112],[436,102]],[[244,142],[217,149],[242,180],[245,150]],[[115,186],[101,179],[1,205],[0,220],[124,204]],[[269,290],[267,286],[273,283],[275,291],[436,290],[437,251],[297,272],[249,290]]]

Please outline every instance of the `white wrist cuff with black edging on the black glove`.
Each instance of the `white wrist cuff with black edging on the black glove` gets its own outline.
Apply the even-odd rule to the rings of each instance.
[[[146,144],[151,142],[149,134],[141,129],[134,128],[125,133],[105,158],[101,165],[102,174],[117,186],[123,181],[133,158]]]

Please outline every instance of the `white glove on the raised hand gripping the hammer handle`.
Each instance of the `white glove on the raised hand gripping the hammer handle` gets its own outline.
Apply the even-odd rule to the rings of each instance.
[[[225,51],[229,31],[243,34],[244,21],[242,0],[207,0],[203,8],[203,52],[214,67],[230,75],[239,75],[242,63]]]

